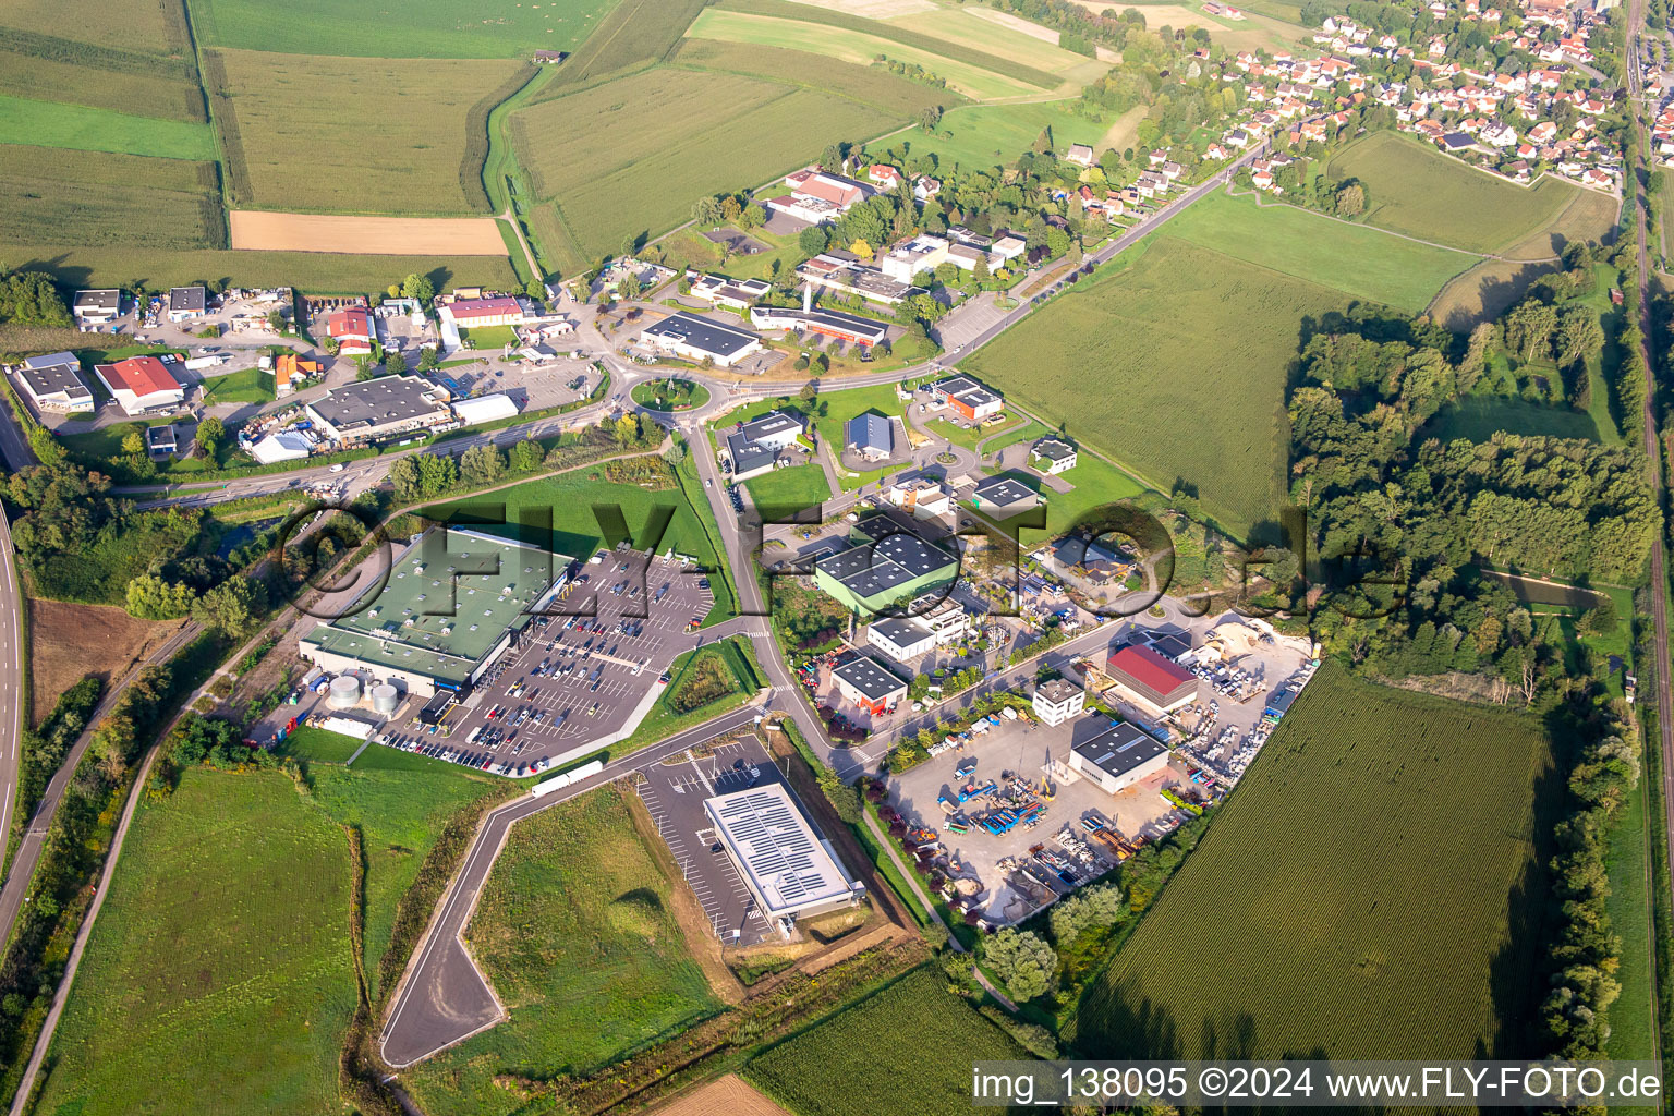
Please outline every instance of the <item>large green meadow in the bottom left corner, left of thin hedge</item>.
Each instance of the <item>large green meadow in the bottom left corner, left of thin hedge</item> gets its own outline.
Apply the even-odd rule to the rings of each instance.
[[[288,778],[186,771],[134,817],[40,1111],[336,1111],[348,917],[348,838]]]

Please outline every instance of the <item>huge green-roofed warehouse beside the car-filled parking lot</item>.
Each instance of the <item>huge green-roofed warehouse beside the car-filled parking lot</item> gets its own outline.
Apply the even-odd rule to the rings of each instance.
[[[333,673],[368,671],[420,698],[470,689],[562,591],[571,559],[457,527],[445,554],[427,554],[442,539],[432,532],[408,545],[352,616],[301,639],[303,658]]]

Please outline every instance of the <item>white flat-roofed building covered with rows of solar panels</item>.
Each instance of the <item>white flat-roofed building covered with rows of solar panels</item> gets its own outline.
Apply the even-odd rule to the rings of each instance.
[[[715,795],[703,811],[768,920],[783,925],[850,907],[865,895],[783,783]]]

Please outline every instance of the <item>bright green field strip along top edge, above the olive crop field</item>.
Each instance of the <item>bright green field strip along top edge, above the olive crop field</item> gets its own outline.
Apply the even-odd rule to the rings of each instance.
[[[194,3],[209,47],[367,59],[516,59],[531,50],[574,50],[616,0],[487,0],[459,5],[412,0],[261,0]]]

